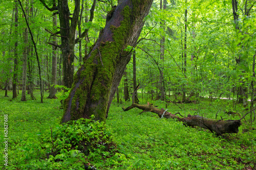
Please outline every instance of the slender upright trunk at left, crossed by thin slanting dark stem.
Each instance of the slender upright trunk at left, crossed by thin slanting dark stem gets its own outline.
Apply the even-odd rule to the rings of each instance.
[[[28,1],[26,1],[26,16],[28,15]],[[24,51],[23,51],[23,72],[22,72],[22,99],[26,101],[26,85],[27,85],[27,60],[28,60],[28,28],[24,31]]]

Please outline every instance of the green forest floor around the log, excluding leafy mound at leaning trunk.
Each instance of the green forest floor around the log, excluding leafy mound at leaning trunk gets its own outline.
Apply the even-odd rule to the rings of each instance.
[[[39,91],[35,92],[36,101],[21,102],[18,98],[4,98],[0,92],[0,142],[3,143],[0,166],[3,169],[83,169],[69,167],[68,161],[52,161],[41,155],[42,141],[40,135],[48,135],[59,125],[62,116],[60,100],[46,99],[39,101]],[[29,95],[27,95],[27,98]],[[158,108],[165,108],[161,101],[140,99],[140,104],[153,103]],[[97,169],[253,169],[256,165],[256,124],[250,124],[250,114],[242,120],[237,134],[217,136],[201,128],[185,127],[175,119],[160,119],[157,114],[139,109],[124,112],[122,107],[131,102],[116,103],[113,100],[106,128],[111,131],[117,145],[117,153],[113,157],[89,159],[90,165]],[[166,109],[166,108],[165,108]],[[169,112],[180,112],[182,115],[198,114],[208,118],[240,119],[246,111],[240,105],[233,105],[229,100],[212,100],[200,98],[197,104],[168,103]],[[227,114],[233,111],[234,114]],[[6,116],[8,115],[8,116]],[[6,118],[7,117],[7,118]],[[253,115],[252,115],[253,118]],[[7,137],[4,122],[8,120]],[[8,138],[8,166],[5,166],[5,138]],[[48,146],[51,147],[51,143]],[[69,160],[69,159],[67,159]],[[77,161],[79,164],[79,161]],[[69,168],[63,168],[69,167]]]

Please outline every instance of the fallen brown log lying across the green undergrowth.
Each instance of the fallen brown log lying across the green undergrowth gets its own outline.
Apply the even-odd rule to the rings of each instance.
[[[176,118],[179,122],[183,122],[184,125],[194,127],[198,126],[204,129],[208,129],[211,132],[215,132],[218,135],[222,135],[224,133],[238,133],[238,128],[241,125],[241,120],[215,120],[206,117],[202,117],[199,115],[190,115],[188,114],[187,117],[179,117],[176,114],[172,114],[167,112],[166,110],[158,109],[153,105],[139,105],[133,103],[131,106],[127,108],[122,108],[124,111],[130,110],[132,108],[138,108],[143,110],[143,112],[153,112],[158,114],[159,117],[165,118]]]

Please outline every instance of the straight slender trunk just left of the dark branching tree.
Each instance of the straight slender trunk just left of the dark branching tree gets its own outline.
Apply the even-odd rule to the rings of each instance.
[[[57,16],[54,15],[52,18],[53,27],[57,27]],[[57,39],[55,36],[53,36],[53,43],[57,44]],[[56,91],[57,89],[54,87],[57,85],[57,47],[52,46],[52,78],[51,78],[51,87],[50,87],[50,94],[48,98],[50,99],[56,99]]]

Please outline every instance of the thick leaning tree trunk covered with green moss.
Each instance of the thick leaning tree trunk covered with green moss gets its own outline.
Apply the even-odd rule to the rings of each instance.
[[[63,104],[62,123],[91,115],[105,121],[131,58],[131,53],[124,49],[137,42],[152,2],[120,0],[108,13],[105,28],[74,76],[71,92]]]

